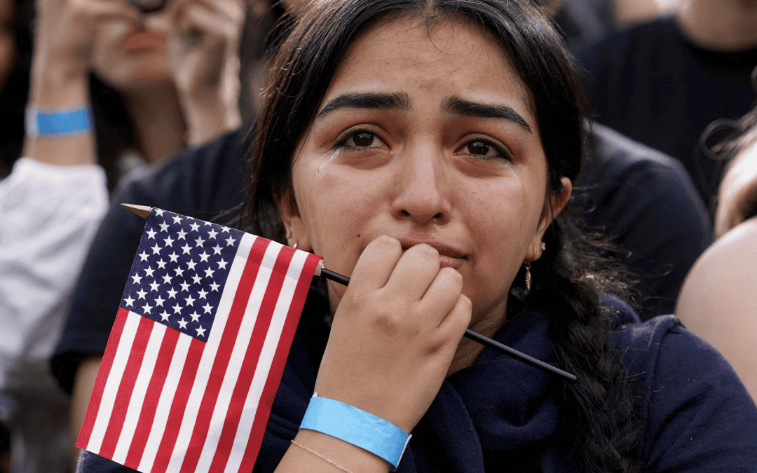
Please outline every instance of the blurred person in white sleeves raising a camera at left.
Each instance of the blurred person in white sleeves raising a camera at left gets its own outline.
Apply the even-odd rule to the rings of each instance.
[[[0,182],[0,392],[11,471],[67,471],[48,374],[108,189],[241,124],[241,0],[39,0],[23,157]]]

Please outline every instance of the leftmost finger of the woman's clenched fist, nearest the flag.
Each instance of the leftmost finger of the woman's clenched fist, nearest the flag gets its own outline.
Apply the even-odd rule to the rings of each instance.
[[[357,260],[352,271],[350,288],[383,288],[394,266],[402,257],[402,245],[395,238],[380,236],[371,241]]]

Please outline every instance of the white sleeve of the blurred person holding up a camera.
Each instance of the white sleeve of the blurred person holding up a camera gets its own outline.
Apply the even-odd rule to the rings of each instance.
[[[20,359],[51,355],[107,204],[100,166],[22,157],[0,182],[0,387]]]

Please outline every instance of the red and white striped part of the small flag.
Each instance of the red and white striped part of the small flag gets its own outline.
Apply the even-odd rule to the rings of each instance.
[[[207,343],[120,308],[77,447],[143,473],[252,471],[318,263],[245,235]]]

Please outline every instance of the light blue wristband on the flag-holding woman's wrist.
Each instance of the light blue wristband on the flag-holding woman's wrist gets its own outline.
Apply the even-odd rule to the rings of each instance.
[[[369,412],[315,394],[310,398],[300,428],[319,431],[352,443],[382,457],[394,468],[400,464],[405,447],[412,437],[396,425]]]

